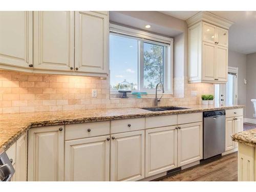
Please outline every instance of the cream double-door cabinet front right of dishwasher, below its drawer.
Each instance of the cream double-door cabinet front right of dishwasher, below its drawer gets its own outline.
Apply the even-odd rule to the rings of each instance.
[[[230,135],[243,131],[243,116],[226,118],[226,142],[225,151],[238,147],[238,143],[232,141]]]

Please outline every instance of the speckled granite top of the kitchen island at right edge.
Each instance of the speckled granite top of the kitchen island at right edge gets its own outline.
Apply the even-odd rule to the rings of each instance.
[[[231,138],[233,141],[256,147],[256,129],[232,134]]]

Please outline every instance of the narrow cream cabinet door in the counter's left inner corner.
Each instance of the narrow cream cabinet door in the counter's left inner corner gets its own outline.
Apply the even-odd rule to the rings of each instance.
[[[27,133],[17,140],[16,181],[27,181]]]

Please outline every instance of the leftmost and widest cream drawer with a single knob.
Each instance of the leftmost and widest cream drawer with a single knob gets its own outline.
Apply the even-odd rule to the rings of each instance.
[[[110,134],[110,121],[66,125],[65,140]]]

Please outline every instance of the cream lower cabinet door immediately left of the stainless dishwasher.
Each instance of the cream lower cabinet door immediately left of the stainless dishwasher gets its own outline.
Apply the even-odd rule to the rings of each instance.
[[[202,122],[178,125],[178,167],[202,159]]]

